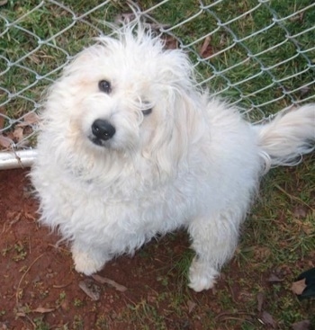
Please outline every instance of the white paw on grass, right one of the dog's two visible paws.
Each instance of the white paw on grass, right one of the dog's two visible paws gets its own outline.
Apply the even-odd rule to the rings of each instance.
[[[209,290],[213,288],[219,274],[209,263],[195,257],[189,269],[189,287],[196,292]]]

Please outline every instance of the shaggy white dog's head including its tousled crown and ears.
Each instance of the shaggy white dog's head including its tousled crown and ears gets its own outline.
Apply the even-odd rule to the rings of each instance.
[[[51,87],[46,116],[76,150],[137,153],[169,170],[193,126],[192,66],[182,50],[134,30],[79,53]]]

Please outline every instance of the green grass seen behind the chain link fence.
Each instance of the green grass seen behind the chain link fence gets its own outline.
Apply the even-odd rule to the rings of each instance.
[[[143,10],[148,10],[157,3],[148,0],[140,1],[139,5]],[[8,97],[6,91],[16,94],[14,99],[5,105],[5,113],[9,117],[18,119],[23,113],[30,111],[34,103],[40,101],[41,91],[58,76],[59,70],[56,72],[56,68],[61,68],[69,56],[82,49],[100,31],[108,31],[102,21],[112,22],[118,13],[130,12],[124,1],[112,1],[85,15],[84,21],[73,21],[73,12],[76,16],[84,15],[96,4],[99,2],[95,0],[89,4],[82,1],[67,1],[65,9],[63,6],[49,2],[40,4],[40,1],[28,0],[23,1],[23,4],[8,1],[3,6],[2,15],[9,22],[24,16],[23,20],[14,23],[8,29],[5,29],[4,19],[0,20],[0,31],[4,31],[4,36],[0,39],[0,51],[10,63],[18,61],[18,66],[8,67],[6,60],[0,58],[0,69],[5,72],[1,77],[3,89],[0,89],[0,103],[6,102]],[[212,2],[204,1],[205,6],[209,4]],[[271,8],[278,17],[281,14],[279,17],[281,18],[308,4],[310,4],[309,0],[290,0],[285,4],[274,1],[271,3]],[[37,9],[32,10],[36,5]],[[197,69],[202,77],[206,80],[210,79],[207,86],[215,92],[224,91],[222,94],[231,101],[252,108],[251,117],[261,119],[261,111],[256,110],[259,104],[280,98],[276,103],[260,107],[260,110],[268,115],[290,105],[293,101],[299,101],[315,93],[311,68],[308,70],[313,64],[315,51],[306,51],[305,56],[299,55],[294,58],[296,54],[294,42],[288,40],[282,44],[287,33],[295,35],[314,25],[315,7],[284,20],[282,26],[275,24],[267,31],[261,31],[272,24],[273,13],[263,4],[256,11],[250,12],[250,9],[256,5],[255,0],[243,0],[238,3],[225,0],[204,10],[193,20],[181,24],[171,32],[184,45],[201,39],[189,49],[192,50],[193,60],[197,60]],[[157,6],[157,9],[149,14],[158,22],[168,23],[172,27],[199,12],[199,2],[196,0],[180,3],[171,0]],[[233,22],[235,17],[246,12],[248,13],[245,18]],[[218,28],[217,20],[230,23],[223,24],[218,31],[211,34],[208,46],[210,52],[202,55],[200,49],[204,43],[204,36]],[[90,24],[93,24],[93,27]],[[71,28],[67,29],[69,26]],[[64,32],[58,34],[59,31]],[[256,31],[261,32],[247,38]],[[235,38],[243,41],[229,49]],[[295,39],[302,50],[307,50],[312,48],[314,38],[315,30],[311,30]],[[41,44],[41,40],[48,41]],[[257,55],[262,50],[272,47],[276,49]],[[220,56],[215,56],[216,52],[219,52]],[[248,53],[257,56],[247,58]],[[209,58],[209,56],[209,60],[204,60],[204,57]],[[21,58],[23,60],[20,60]],[[284,63],[277,65],[281,62]],[[221,74],[217,75],[216,72]],[[16,79],[17,76],[19,79]],[[252,76],[255,78],[251,78]],[[288,76],[293,77],[286,79]],[[227,84],[230,85],[228,90],[226,90]],[[303,85],[305,87],[299,89]]]

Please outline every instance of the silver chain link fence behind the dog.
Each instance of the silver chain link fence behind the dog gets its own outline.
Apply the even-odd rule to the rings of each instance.
[[[42,92],[77,51],[111,33],[106,22],[134,13],[163,33],[167,47],[188,52],[200,85],[250,120],[314,102],[312,0],[2,0],[0,157],[36,147]]]

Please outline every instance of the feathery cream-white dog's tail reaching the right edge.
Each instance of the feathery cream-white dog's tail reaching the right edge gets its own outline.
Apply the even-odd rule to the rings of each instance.
[[[255,128],[267,167],[296,165],[302,155],[315,149],[315,103],[279,114],[275,120]]]

